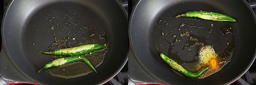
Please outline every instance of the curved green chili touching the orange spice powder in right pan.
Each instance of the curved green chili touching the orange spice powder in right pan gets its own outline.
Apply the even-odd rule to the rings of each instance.
[[[206,72],[209,68],[204,68],[202,70],[199,70],[196,73],[190,72],[189,70],[186,70],[185,68],[183,68],[182,66],[180,66],[178,63],[176,63],[174,60],[169,59],[165,54],[163,54],[162,52],[160,52],[158,50],[158,48],[156,47],[156,50],[158,51],[160,57],[162,58],[162,60],[167,63],[169,66],[171,66],[171,68],[174,68],[175,70],[177,70],[178,72],[180,72],[181,74],[183,74],[186,77],[191,77],[191,78],[197,78],[200,77],[202,74],[204,74],[204,72]]]

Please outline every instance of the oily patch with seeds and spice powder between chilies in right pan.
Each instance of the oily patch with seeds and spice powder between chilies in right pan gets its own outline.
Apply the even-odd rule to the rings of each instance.
[[[212,26],[212,25],[211,25]],[[230,24],[224,24],[219,29],[208,30],[206,27],[189,26],[182,23],[178,30],[172,34],[173,40],[170,42],[169,58],[182,65],[184,68],[191,72],[197,72],[203,68],[211,66],[211,68],[204,73],[198,79],[208,77],[223,68],[232,57],[234,50],[234,33]],[[189,30],[188,30],[189,29]],[[193,30],[194,29],[194,30]],[[197,30],[207,30],[206,34],[200,34],[202,32],[195,33]],[[219,34],[220,36],[216,36]],[[199,36],[201,35],[201,36]],[[204,35],[204,36],[202,36]],[[232,37],[230,37],[230,35]],[[212,43],[210,39],[216,37],[224,38],[228,43]],[[221,51],[215,52],[214,48],[218,48],[215,45],[225,44]]]

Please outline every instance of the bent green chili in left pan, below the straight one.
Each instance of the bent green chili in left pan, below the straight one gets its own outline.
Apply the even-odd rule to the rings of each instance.
[[[96,69],[94,68],[93,64],[84,56],[78,55],[78,56],[70,56],[70,57],[63,57],[56,60],[53,60],[52,62],[49,62],[48,64],[44,65],[42,69],[40,69],[37,73],[41,72],[42,70],[52,68],[55,66],[61,66],[64,64],[69,64],[72,62],[82,61],[85,62],[93,70],[95,73],[97,73]]]

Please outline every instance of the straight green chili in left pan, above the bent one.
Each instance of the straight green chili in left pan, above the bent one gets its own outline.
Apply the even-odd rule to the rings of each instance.
[[[92,51],[96,51],[99,49],[104,49],[106,48],[105,45],[98,45],[98,44],[89,44],[89,45],[81,45],[78,47],[71,47],[71,48],[66,48],[66,49],[58,49],[55,51],[51,52],[43,52],[45,54],[50,54],[50,55],[83,55],[86,53],[90,53]]]

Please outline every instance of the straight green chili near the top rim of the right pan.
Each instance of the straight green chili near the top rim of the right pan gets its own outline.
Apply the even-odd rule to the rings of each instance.
[[[207,11],[190,11],[190,12],[176,16],[176,18],[177,17],[198,17],[198,18],[213,20],[213,21],[236,22],[236,20],[234,18],[232,18],[228,15],[223,15],[223,14],[214,13],[214,12],[207,12]]]

